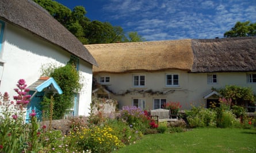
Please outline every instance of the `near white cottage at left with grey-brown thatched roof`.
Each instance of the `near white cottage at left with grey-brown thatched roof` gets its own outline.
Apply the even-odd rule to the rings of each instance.
[[[83,44],[46,10],[30,0],[0,1],[0,92],[13,97],[19,79],[32,85],[45,64],[64,66],[75,58],[83,77],[74,115],[88,115],[92,68],[97,65]]]

